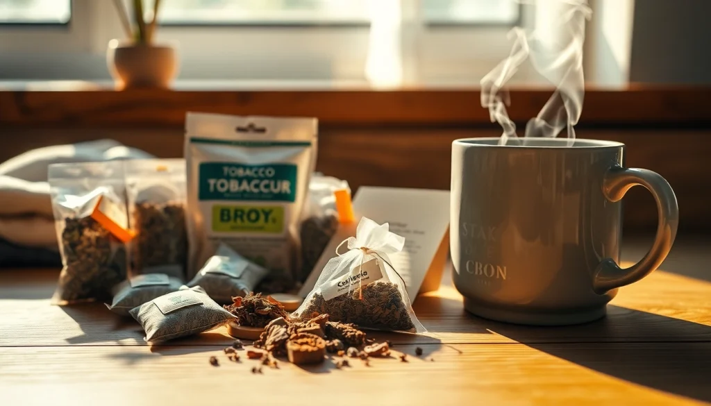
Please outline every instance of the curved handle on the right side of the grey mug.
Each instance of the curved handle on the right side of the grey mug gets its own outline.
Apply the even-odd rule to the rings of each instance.
[[[646,277],[666,258],[679,226],[679,206],[669,183],[656,172],[647,169],[613,166],[602,181],[602,192],[609,201],[620,201],[632,186],[641,185],[652,193],[657,202],[657,234],[651,250],[639,262],[622,269],[611,258],[600,262],[594,272],[593,289],[597,294],[623,287]]]

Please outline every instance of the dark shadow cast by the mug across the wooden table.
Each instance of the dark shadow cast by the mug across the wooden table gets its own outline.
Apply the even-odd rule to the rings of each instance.
[[[623,311],[619,311],[620,309]],[[616,323],[615,318],[621,314],[644,321],[634,324],[637,328],[634,333],[638,337],[624,341],[617,339],[632,333],[619,331],[624,328],[624,323]],[[476,319],[493,332],[584,368],[648,388],[711,402],[711,342],[708,341],[710,326],[645,311],[609,306],[609,316],[599,321],[580,326],[545,327],[550,336],[555,335],[556,330],[566,333],[575,329],[588,331],[602,338],[599,342],[545,343],[532,339],[535,335],[531,334],[531,331],[540,328]],[[688,342],[663,340],[664,337],[681,335],[687,338]],[[647,340],[643,340],[645,337]],[[706,339],[691,341],[694,337]]]

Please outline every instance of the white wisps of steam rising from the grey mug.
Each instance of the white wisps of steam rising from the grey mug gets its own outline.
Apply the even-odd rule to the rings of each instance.
[[[521,1],[521,0],[519,0]],[[500,144],[518,137],[516,125],[508,117],[508,91],[503,87],[518,67],[530,57],[533,68],[555,85],[555,92],[543,108],[528,121],[525,137],[557,137],[567,129],[575,138],[573,126],[582,112],[584,78],[582,47],[585,21],[592,16],[587,0],[537,0],[535,31],[513,28],[514,43],[508,58],[481,79],[481,107],[487,107],[491,122],[503,127]]]

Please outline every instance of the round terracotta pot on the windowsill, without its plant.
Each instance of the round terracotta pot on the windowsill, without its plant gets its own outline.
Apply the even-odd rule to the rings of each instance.
[[[170,87],[178,73],[176,50],[170,46],[109,42],[109,71],[117,88]]]

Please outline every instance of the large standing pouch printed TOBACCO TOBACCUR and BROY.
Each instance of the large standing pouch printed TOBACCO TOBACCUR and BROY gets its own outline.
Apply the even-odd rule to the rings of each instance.
[[[225,243],[294,279],[316,137],[313,118],[187,114],[190,276]]]

